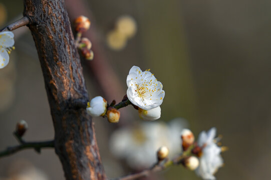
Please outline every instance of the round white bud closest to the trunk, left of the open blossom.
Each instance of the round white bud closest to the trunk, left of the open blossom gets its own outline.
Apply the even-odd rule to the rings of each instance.
[[[93,117],[105,115],[107,101],[102,96],[96,96],[88,103],[87,112]]]

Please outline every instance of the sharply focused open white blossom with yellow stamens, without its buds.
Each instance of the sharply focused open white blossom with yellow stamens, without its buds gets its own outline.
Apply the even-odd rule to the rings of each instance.
[[[142,72],[138,66],[133,66],[126,79],[127,96],[129,100],[144,110],[158,107],[163,102],[165,91],[163,85],[148,70]]]

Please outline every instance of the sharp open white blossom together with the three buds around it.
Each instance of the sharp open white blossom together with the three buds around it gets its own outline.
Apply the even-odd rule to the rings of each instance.
[[[133,66],[127,75],[127,103],[138,109],[139,117],[152,121],[161,116],[160,105],[163,102],[165,91],[163,85],[158,81],[150,69],[142,71],[138,66]],[[114,103],[111,106],[102,96],[94,97],[87,106],[87,112],[91,116],[108,117],[110,122],[118,122],[120,112],[115,108]]]

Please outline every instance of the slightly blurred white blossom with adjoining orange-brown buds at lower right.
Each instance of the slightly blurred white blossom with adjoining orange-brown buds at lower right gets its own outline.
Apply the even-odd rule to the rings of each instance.
[[[222,148],[217,145],[215,134],[216,128],[212,127],[208,132],[202,131],[197,142],[194,142],[194,135],[189,129],[181,132],[182,148],[191,154],[184,158],[184,165],[195,169],[196,174],[203,179],[215,179],[214,173],[223,165],[220,155]]]

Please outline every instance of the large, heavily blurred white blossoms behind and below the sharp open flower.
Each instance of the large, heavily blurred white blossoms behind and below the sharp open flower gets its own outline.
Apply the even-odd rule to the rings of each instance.
[[[169,149],[169,158],[181,151],[180,131],[185,128],[184,119],[163,122],[142,122],[138,126],[123,127],[113,132],[110,150],[127,161],[134,169],[149,167],[157,160],[156,151],[161,146]]]

